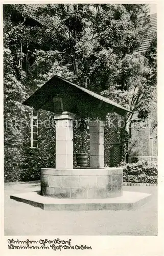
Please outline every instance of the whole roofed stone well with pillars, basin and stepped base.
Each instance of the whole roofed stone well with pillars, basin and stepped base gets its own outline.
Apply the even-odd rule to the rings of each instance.
[[[12,195],[12,199],[45,210],[119,210],[134,209],[150,196],[127,191],[123,193],[123,168],[104,168],[106,115],[115,112],[125,116],[131,111],[59,76],[52,77],[24,104],[35,110],[54,112],[56,166],[41,168],[40,191]],[[88,168],[73,168],[76,116],[88,120]]]

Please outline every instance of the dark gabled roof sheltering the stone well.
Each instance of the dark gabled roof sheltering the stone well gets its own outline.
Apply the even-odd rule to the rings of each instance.
[[[54,98],[63,101],[63,111],[77,115],[81,115],[82,112],[85,117],[105,117],[109,112],[124,116],[127,112],[131,112],[120,104],[57,75],[43,84],[23,104],[32,106],[36,110],[56,112]]]

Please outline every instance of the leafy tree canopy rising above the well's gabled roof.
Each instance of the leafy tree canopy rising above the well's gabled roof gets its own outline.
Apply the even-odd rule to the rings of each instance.
[[[136,51],[150,27],[148,6],[39,6],[33,15],[42,25],[33,27],[26,19],[11,22],[13,13],[25,13],[25,5],[4,8],[4,42],[17,63],[21,57],[20,41],[23,45],[28,42],[31,63],[28,75],[20,79],[28,84],[29,94],[55,74],[81,86],[85,86],[87,77],[88,89],[147,115],[148,102],[156,86],[156,56],[152,49],[146,56]],[[155,49],[155,39],[152,48]],[[15,70],[20,73],[19,67]],[[126,117],[127,123],[131,117]]]

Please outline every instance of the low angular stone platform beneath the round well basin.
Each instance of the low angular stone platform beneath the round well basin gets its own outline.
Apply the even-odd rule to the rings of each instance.
[[[43,197],[40,191],[10,196],[43,210],[134,210],[147,202],[151,194],[124,191],[121,197],[108,199],[57,199]]]

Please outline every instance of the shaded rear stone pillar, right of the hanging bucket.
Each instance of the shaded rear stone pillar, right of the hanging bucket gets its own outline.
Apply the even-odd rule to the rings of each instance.
[[[104,126],[103,121],[89,121],[90,167],[104,167]]]

